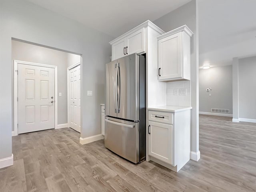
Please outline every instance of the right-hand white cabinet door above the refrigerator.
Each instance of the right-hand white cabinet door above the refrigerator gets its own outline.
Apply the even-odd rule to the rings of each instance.
[[[130,34],[127,37],[128,54],[141,53],[145,51],[144,28]]]

